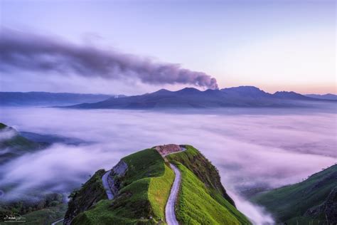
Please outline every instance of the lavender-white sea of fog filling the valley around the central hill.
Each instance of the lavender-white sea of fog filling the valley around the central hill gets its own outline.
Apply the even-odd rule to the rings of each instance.
[[[336,110],[166,113],[3,108],[1,122],[19,131],[77,137],[92,144],[53,145],[14,159],[0,167],[0,185],[20,184],[9,195],[41,186],[69,192],[97,169],[109,169],[132,152],[167,143],[190,144],[218,167],[238,208],[262,224],[272,219],[237,193],[299,182],[336,163],[336,118]]]

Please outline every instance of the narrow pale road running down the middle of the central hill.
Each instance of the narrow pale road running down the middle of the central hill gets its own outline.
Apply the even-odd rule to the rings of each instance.
[[[165,217],[166,217],[166,223],[169,225],[178,225],[178,221],[176,219],[176,214],[174,211],[174,207],[176,206],[176,199],[178,197],[178,192],[180,188],[181,183],[181,174],[179,169],[170,163],[171,168],[173,169],[174,173],[176,174],[176,177],[174,178],[174,182],[171,188],[171,193],[169,196],[169,200],[166,203],[165,207]]]

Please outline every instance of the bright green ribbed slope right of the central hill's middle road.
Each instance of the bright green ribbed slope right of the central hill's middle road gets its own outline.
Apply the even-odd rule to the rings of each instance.
[[[186,149],[167,156],[181,171],[178,221],[181,224],[250,224],[225,193],[213,164],[194,147],[187,145]]]

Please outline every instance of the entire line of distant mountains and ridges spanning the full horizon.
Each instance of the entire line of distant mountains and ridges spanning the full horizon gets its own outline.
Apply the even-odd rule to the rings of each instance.
[[[310,107],[314,102],[337,102],[336,95],[301,95],[278,91],[266,93],[253,86],[198,90],[183,88],[161,89],[144,95],[100,95],[46,92],[0,92],[2,106],[58,106],[69,108],[224,108],[224,107]]]

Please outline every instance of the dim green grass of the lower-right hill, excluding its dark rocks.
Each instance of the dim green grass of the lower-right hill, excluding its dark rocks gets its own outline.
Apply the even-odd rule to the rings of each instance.
[[[313,174],[304,182],[257,194],[252,197],[252,202],[271,211],[277,221],[289,224],[303,221],[302,224],[307,224],[314,219],[326,219],[323,212],[309,216],[306,211],[323,204],[334,187],[337,187],[337,164]]]

